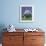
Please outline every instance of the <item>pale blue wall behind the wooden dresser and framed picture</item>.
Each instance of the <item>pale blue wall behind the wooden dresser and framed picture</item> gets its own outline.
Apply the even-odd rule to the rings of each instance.
[[[0,4],[0,25],[13,24],[16,28],[38,27],[40,25],[46,28],[46,0],[0,0]],[[34,5],[34,22],[19,22],[19,6],[21,4]]]

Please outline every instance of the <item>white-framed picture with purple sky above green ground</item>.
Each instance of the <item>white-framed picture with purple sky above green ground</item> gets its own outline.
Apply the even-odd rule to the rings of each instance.
[[[34,21],[34,6],[20,5],[20,22],[33,22],[33,21]]]

